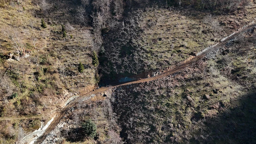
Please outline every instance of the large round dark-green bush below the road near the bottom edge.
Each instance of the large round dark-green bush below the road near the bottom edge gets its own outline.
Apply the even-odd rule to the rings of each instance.
[[[84,123],[82,123],[82,129],[86,136],[94,138],[97,135],[96,124],[93,123],[92,120],[86,120]]]

